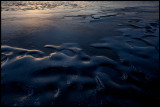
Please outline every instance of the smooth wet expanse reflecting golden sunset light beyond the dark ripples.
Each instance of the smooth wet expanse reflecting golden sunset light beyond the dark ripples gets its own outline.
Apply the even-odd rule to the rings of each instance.
[[[136,12],[132,12],[135,11],[134,6],[140,6],[136,7]],[[149,6],[150,10],[145,6]],[[118,17],[137,17],[134,15],[142,14],[142,10],[156,12],[156,6],[158,5],[152,2],[2,1],[2,44],[23,46],[24,44],[17,41],[30,38],[34,46],[39,44],[35,40],[41,41],[43,45],[57,44],[57,41],[59,44],[78,42],[82,46],[84,43],[89,45],[98,38],[119,35],[120,33],[115,32],[119,24]],[[157,18],[157,15],[139,17],[148,16]],[[92,39],[87,39],[90,37]],[[27,44],[26,42],[26,46]]]

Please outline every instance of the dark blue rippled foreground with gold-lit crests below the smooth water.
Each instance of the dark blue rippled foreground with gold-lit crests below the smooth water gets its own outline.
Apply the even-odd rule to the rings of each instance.
[[[114,38],[115,41],[120,41],[119,39],[121,38]],[[152,83],[159,81],[158,69],[155,69],[157,64],[149,66],[153,62],[147,60],[149,57],[151,61],[152,57],[150,55],[147,58],[142,57],[143,52],[150,54],[148,52],[152,52],[154,48],[131,49],[128,45],[122,48],[124,41],[122,44],[118,43],[120,45],[110,45],[111,41],[117,43],[113,42],[114,40],[106,38],[104,41],[107,41],[107,44],[93,46],[107,46],[115,51],[120,49],[118,52],[120,61],[106,56],[89,56],[75,43],[60,46],[45,45],[46,48],[55,49],[49,55],[40,50],[2,46],[2,104],[16,106],[150,104],[144,103],[142,99],[156,103],[154,96],[157,89]]]

